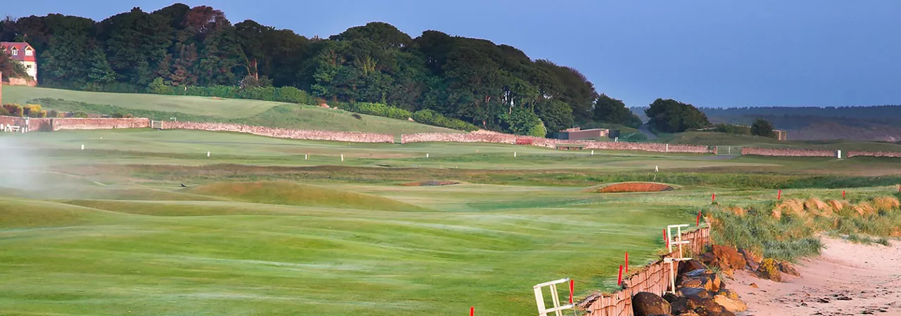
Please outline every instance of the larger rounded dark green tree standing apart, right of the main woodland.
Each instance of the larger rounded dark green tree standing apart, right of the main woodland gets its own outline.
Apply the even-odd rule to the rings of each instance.
[[[678,133],[710,126],[707,116],[695,106],[672,99],[657,99],[644,112],[651,118],[651,126],[661,132]]]

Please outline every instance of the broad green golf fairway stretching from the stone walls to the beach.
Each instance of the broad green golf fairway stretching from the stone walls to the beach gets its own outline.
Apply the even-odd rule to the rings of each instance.
[[[901,183],[893,159],[178,130],[5,133],[0,150],[0,314],[14,315],[528,315],[535,284],[614,289],[624,252],[633,268],[656,259],[660,230],[694,224],[712,193],[730,205]],[[401,185],[423,180],[460,184]],[[633,180],[678,189],[591,192]]]

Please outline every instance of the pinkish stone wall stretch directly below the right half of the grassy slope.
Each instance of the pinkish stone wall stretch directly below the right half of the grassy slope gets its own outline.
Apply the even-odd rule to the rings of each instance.
[[[323,130],[288,129],[276,127],[251,127],[229,123],[163,122],[165,129],[196,129],[214,132],[248,133],[276,138],[325,140],[350,143],[391,143],[395,137],[387,134],[336,132]]]

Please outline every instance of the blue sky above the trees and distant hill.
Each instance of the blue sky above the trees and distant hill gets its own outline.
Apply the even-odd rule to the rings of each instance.
[[[7,1],[14,17],[97,21],[171,0]],[[672,98],[703,107],[901,104],[901,1],[205,0],[306,36],[388,22],[493,40],[577,68],[629,106]]]

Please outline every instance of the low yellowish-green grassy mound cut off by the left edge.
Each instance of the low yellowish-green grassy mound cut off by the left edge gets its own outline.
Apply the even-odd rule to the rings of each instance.
[[[59,203],[0,199],[0,228],[73,226],[110,215],[96,209]]]

